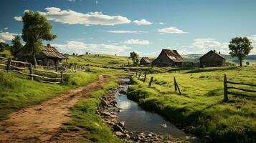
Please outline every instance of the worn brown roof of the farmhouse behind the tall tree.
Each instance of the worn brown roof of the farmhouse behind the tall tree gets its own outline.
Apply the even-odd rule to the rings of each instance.
[[[22,48],[23,48],[23,46],[22,46]],[[14,55],[17,54],[19,51],[21,51],[22,48],[15,51]],[[65,56],[64,54],[57,51],[57,49],[55,49],[53,46],[42,46],[42,53],[47,57],[67,59],[67,56]]]

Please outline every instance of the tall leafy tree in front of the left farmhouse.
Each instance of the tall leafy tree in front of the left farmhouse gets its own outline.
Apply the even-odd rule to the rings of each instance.
[[[32,54],[34,66],[37,66],[36,56],[42,51],[42,41],[51,41],[57,35],[51,34],[52,24],[39,12],[26,11],[23,20],[22,39],[26,42],[24,52]]]

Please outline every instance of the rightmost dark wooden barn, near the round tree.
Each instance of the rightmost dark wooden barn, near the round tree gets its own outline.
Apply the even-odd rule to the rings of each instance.
[[[220,51],[217,52],[215,50],[211,50],[199,58],[200,67],[224,66],[225,60]]]

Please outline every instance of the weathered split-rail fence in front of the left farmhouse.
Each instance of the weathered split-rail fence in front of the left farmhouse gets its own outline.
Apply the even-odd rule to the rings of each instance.
[[[46,71],[43,69],[34,69],[31,63],[24,61],[16,61],[11,58],[7,59],[4,57],[0,57],[0,69],[9,71],[14,71],[19,74],[23,74],[29,77],[29,79],[34,80],[37,79],[39,82],[50,83],[50,84],[63,84],[64,74],[63,70],[60,72],[54,71]],[[29,70],[29,72],[25,72]],[[44,74],[54,74],[56,77],[46,77],[38,74],[34,74],[34,72],[42,72]],[[59,76],[59,77],[58,77]]]

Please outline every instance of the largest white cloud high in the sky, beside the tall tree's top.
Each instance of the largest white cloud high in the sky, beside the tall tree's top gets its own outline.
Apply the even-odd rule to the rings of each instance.
[[[63,24],[82,24],[89,25],[116,25],[116,24],[129,24],[131,20],[124,16],[108,16],[102,12],[89,12],[83,14],[77,11],[62,10],[57,7],[47,7],[46,12],[40,12],[47,16],[48,20],[60,22]]]

